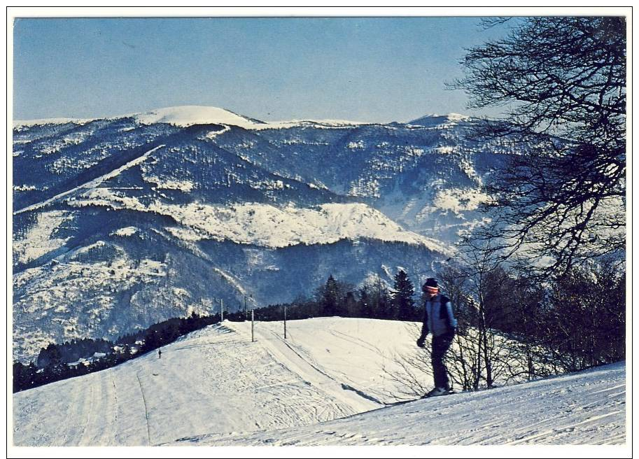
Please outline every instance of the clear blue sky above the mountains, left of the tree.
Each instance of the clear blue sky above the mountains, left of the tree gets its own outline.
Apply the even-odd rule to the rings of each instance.
[[[13,115],[176,105],[261,120],[477,114],[444,82],[461,76],[464,48],[506,31],[477,17],[17,19]]]

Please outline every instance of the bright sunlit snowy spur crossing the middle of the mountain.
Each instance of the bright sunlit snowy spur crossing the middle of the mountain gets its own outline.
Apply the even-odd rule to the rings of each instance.
[[[270,248],[300,243],[333,243],[340,239],[370,238],[427,246],[445,253],[442,244],[424,236],[407,232],[379,211],[365,204],[322,204],[317,208],[286,206],[279,209],[269,204],[243,203],[235,206],[210,206],[199,202],[187,205],[152,202],[142,204],[134,197],[114,195],[108,188],[86,192],[69,202],[71,206],[106,206],[153,212],[169,216],[181,224],[169,229],[171,234],[187,241],[230,240]]]

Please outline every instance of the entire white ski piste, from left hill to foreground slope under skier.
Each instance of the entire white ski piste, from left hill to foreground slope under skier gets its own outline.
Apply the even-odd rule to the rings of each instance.
[[[13,395],[15,446],[626,443],[626,365],[387,406],[398,321],[212,325],[118,367]]]

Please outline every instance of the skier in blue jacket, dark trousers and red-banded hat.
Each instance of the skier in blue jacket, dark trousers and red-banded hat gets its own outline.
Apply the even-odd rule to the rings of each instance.
[[[424,397],[435,397],[437,395],[447,395],[451,392],[451,387],[444,367],[444,355],[450,347],[455,336],[457,320],[453,315],[453,306],[450,299],[440,294],[437,279],[428,278],[421,287],[426,296],[424,303],[424,318],[421,327],[421,336],[417,339],[417,346],[426,346],[426,335],[433,334],[433,352],[431,361],[433,363],[433,376],[435,388]]]

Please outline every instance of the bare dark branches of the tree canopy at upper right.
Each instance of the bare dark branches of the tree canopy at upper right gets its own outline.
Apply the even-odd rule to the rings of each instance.
[[[626,20],[530,17],[510,35],[468,50],[453,87],[472,108],[504,106],[479,135],[508,136],[526,153],[494,178],[495,218],[476,236],[506,255],[566,271],[625,251]]]

